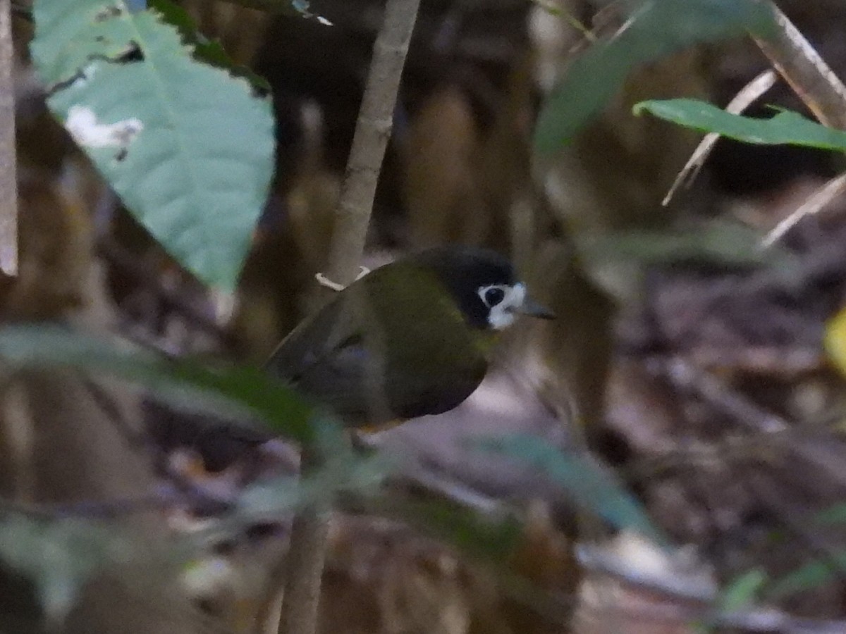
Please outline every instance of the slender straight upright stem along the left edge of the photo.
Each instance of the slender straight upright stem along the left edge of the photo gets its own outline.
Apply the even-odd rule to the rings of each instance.
[[[18,177],[14,145],[12,5],[0,0],[0,271],[18,274]]]

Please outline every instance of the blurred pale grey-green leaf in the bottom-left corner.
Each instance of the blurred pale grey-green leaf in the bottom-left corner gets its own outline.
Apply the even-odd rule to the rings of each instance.
[[[90,520],[0,515],[0,561],[34,584],[54,626],[96,571],[130,553],[129,541]]]

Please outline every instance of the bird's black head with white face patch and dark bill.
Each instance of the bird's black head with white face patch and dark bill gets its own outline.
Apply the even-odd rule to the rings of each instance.
[[[525,284],[517,279],[514,266],[495,251],[437,247],[412,260],[437,275],[474,328],[501,331],[514,323],[519,313],[552,318],[548,310],[526,297]]]

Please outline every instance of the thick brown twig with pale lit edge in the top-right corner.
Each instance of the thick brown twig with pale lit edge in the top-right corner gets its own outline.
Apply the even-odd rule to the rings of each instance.
[[[769,4],[779,28],[766,39],[753,37],[755,44],[820,123],[846,129],[846,85],[781,9]]]

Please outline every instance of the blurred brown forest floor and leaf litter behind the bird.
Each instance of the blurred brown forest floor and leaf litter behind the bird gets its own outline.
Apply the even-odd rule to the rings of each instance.
[[[22,261],[18,278],[3,280],[0,306],[7,321],[72,320],[167,353],[260,362],[303,316],[325,265],[382,3],[312,3],[332,27],[208,0],[183,4],[273,90],[277,174],[235,297],[210,296],[179,271],[74,150],[32,79],[29,25],[20,20]],[[604,3],[555,4],[591,27]],[[846,7],[779,5],[846,74]],[[558,314],[514,332],[495,372],[462,407],[375,442],[402,456],[409,476],[464,495],[470,506],[484,500],[519,509],[528,518],[525,549],[512,571],[571,609],[551,614],[515,597],[484,566],[408,527],[338,516],[323,631],[570,631],[573,613],[572,631],[692,631],[684,619],[631,616],[663,599],[591,587],[573,544],[599,535],[579,521],[566,491],[530,469],[469,452],[473,435],[531,431],[567,451],[592,451],[618,468],[678,544],[695,544],[700,568],[721,584],[755,567],[776,578],[846,546],[842,527],[813,521],[846,491],[843,383],[821,347],[846,288],[846,201],[801,221],[772,260],[741,257],[843,161],[818,150],[720,141],[693,187],[661,205],[699,137],[636,118],[631,106],[678,96],[724,106],[766,68],[751,41],[699,46],[641,68],[573,145],[541,160],[530,146],[538,108],[581,46],[580,32],[540,4],[423,2],[366,262],[438,243],[486,245],[514,258]],[[767,104],[803,109],[783,83],[750,113],[765,116]],[[728,243],[728,254],[715,255],[709,239]],[[99,500],[157,485],[150,453],[140,448],[149,439],[136,395],[58,372],[5,379],[3,495]],[[129,433],[116,431],[117,418]],[[168,428],[156,440],[184,465],[185,456],[202,457],[205,433]],[[246,445],[222,461],[222,473],[192,477],[239,486],[281,468],[277,445]],[[162,539],[173,530],[171,516],[143,521]],[[223,581],[184,600],[174,593],[179,598],[166,601],[157,596],[162,588],[103,584],[69,631],[259,631],[251,628],[265,554],[279,543],[270,531],[228,544]],[[781,605],[843,618],[842,577],[833,566],[827,583]],[[159,609],[115,616],[143,613],[147,604]],[[203,619],[192,611],[197,605]]]

